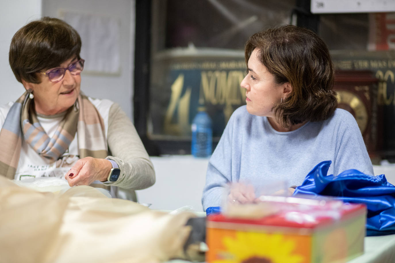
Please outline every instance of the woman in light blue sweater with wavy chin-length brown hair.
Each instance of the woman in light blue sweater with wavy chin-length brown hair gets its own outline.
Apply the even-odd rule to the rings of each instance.
[[[256,33],[245,60],[247,105],[235,110],[209,160],[204,209],[222,205],[229,182],[301,185],[324,160],[332,161],[328,174],[357,169],[373,175],[354,117],[336,108],[334,66],[318,35],[291,25]],[[227,198],[245,202],[255,195],[238,187]]]

